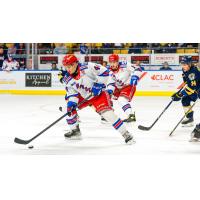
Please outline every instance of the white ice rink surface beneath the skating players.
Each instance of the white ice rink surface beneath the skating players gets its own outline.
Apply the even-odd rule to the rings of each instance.
[[[180,102],[174,102],[159,122],[150,131],[138,130],[138,125],[149,126],[164,107],[169,97],[135,97],[132,101],[137,122],[127,125],[135,136],[135,145],[126,145],[122,136],[111,125],[104,125],[92,108],[79,111],[83,139],[69,141],[64,138],[68,130],[63,119],[31,145],[14,143],[14,138],[30,139],[39,133],[61,113],[58,108],[64,106],[63,96],[0,95],[0,154],[3,155],[82,155],[82,154],[133,154],[133,155],[171,155],[200,154],[200,143],[188,142],[193,127],[179,126],[173,137],[169,137],[183,116]],[[114,103],[116,113],[124,117],[119,106]],[[195,106],[195,121],[200,122],[200,104]]]

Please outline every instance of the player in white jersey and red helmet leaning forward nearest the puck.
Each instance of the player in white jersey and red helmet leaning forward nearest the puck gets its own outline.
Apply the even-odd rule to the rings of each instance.
[[[114,113],[110,95],[103,90],[109,77],[108,69],[91,62],[81,64],[75,55],[66,55],[63,59],[63,66],[68,72],[65,74],[63,82],[67,87],[67,112],[71,113],[66,117],[71,131],[65,133],[64,136],[71,139],[81,137],[76,109],[92,105],[97,113],[121,133],[127,144],[134,143],[135,140],[127,131],[123,121]],[[81,104],[91,94],[93,96]]]

